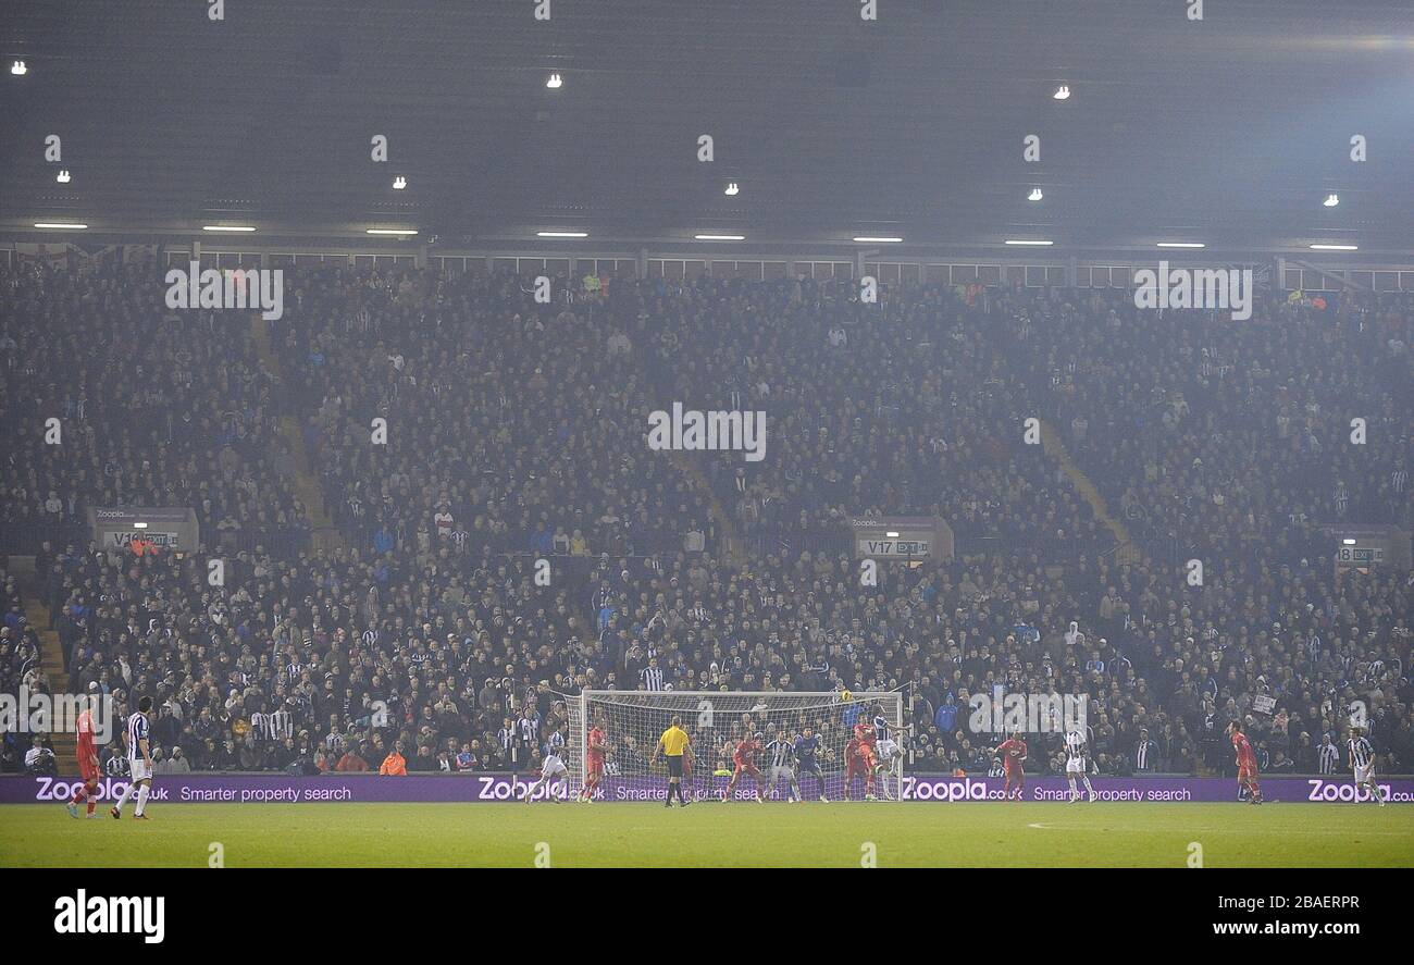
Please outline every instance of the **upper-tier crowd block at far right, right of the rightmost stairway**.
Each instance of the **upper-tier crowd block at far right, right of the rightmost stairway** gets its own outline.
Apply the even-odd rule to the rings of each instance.
[[[1141,311],[1127,291],[1022,289],[988,327],[1140,533],[1295,565],[1329,556],[1318,522],[1414,524],[1408,294],[1292,293],[1237,323]]]

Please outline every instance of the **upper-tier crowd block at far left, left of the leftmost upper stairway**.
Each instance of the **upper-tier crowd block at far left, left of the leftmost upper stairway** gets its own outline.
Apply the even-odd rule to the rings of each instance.
[[[191,507],[230,548],[307,532],[279,434],[283,393],[249,320],[171,311],[164,286],[144,283],[154,273],[35,266],[0,284],[6,549],[81,539],[86,511],[115,505]]]

